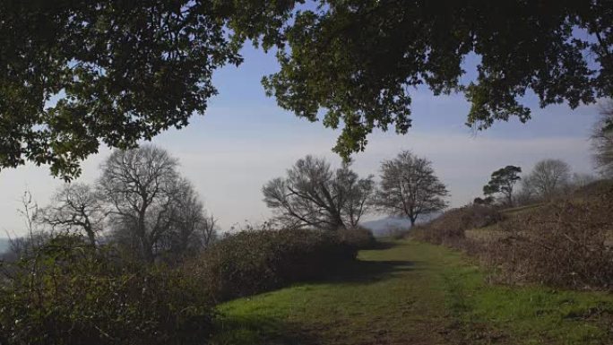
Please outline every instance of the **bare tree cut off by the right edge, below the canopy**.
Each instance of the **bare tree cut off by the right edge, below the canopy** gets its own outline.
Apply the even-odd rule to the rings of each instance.
[[[596,168],[604,177],[613,178],[613,100],[600,110],[600,121],[591,134]]]

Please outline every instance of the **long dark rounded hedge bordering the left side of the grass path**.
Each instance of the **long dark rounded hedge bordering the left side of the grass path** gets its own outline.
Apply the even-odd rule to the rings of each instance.
[[[206,277],[212,295],[224,300],[321,277],[356,254],[356,245],[331,231],[241,231],[204,252],[194,270]]]

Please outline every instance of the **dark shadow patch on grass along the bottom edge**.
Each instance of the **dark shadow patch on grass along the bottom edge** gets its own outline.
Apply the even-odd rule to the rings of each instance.
[[[305,332],[298,324],[279,318],[253,315],[221,317],[217,323],[212,345],[298,345],[320,344],[314,334]]]

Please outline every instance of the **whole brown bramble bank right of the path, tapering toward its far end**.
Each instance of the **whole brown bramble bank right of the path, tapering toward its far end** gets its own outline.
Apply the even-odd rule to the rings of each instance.
[[[593,189],[593,188],[592,188]],[[413,236],[476,256],[494,280],[566,289],[613,289],[613,190],[582,193],[503,217],[472,205],[445,212]],[[487,240],[465,231],[498,223]]]

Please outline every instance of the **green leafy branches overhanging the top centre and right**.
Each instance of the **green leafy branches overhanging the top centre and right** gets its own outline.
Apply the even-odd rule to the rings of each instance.
[[[374,128],[410,127],[411,87],[461,91],[467,125],[531,117],[518,101],[571,108],[613,95],[611,1],[326,1],[286,30],[281,71],[264,79],[282,108],[343,125],[334,151],[361,151]],[[580,33],[580,34],[579,34]],[[480,57],[474,82],[462,61]],[[591,61],[590,59],[593,59]],[[591,67],[594,65],[594,67]]]

